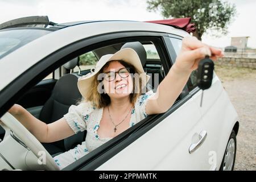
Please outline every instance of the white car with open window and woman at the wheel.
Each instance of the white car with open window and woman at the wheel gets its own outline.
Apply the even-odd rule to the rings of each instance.
[[[85,131],[40,143],[7,112],[12,105],[22,105],[46,123],[56,121],[81,97],[77,78],[102,55],[123,47],[137,51],[155,79],[148,88],[156,90],[174,64],[181,40],[190,36],[180,28],[147,22],[48,22],[47,27],[17,22],[16,27],[0,24],[1,170],[59,170],[52,157],[86,137]],[[166,113],[150,115],[63,170],[232,170],[237,112],[215,73],[200,106],[202,90],[195,75]]]

